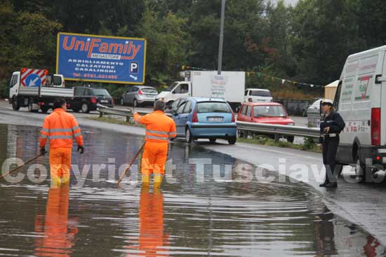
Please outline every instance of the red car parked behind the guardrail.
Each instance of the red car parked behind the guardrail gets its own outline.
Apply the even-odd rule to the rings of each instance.
[[[279,125],[295,125],[295,122],[289,118],[284,106],[276,103],[251,103],[242,104],[237,115],[237,121],[244,121],[249,123],[266,123]],[[241,132],[239,132],[241,133]],[[239,134],[244,136],[244,134]],[[269,134],[269,137],[274,137]],[[287,141],[293,143],[293,136],[286,137]]]

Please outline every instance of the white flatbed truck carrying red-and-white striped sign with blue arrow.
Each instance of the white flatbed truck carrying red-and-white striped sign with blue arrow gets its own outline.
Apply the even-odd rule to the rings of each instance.
[[[53,107],[56,97],[72,99],[74,90],[65,88],[65,79],[60,74],[49,75],[46,69],[22,68],[11,77],[9,103],[18,111],[20,107],[28,107],[28,111],[46,113]]]

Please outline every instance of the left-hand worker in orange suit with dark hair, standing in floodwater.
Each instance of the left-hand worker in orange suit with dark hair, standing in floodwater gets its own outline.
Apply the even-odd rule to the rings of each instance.
[[[74,116],[66,112],[66,105],[64,98],[55,99],[53,113],[44,119],[39,140],[40,151],[44,155],[47,139],[49,139],[51,183],[57,186],[69,183],[73,138],[78,144],[77,151],[84,153],[81,129]]]

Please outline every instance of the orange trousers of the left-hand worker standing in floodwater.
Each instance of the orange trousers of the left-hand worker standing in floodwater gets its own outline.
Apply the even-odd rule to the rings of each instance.
[[[72,148],[50,148],[50,170],[51,179],[69,180],[69,169],[71,169]]]

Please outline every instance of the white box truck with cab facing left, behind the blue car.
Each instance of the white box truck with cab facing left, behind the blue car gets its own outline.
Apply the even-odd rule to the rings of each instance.
[[[167,106],[184,97],[213,97],[225,99],[232,109],[244,102],[244,71],[182,71],[185,81],[176,81],[159,93],[157,99]]]

